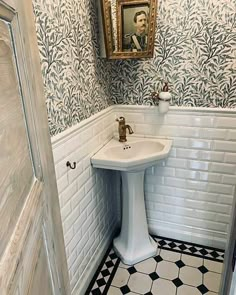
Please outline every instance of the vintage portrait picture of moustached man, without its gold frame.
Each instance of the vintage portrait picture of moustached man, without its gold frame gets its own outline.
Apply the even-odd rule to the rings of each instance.
[[[123,6],[122,50],[142,52],[148,45],[149,5]]]

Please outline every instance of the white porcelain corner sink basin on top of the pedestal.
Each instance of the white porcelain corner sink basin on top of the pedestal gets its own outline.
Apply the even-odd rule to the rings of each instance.
[[[127,142],[111,139],[91,159],[93,167],[138,171],[146,169],[167,157],[172,141],[151,137],[129,137]]]

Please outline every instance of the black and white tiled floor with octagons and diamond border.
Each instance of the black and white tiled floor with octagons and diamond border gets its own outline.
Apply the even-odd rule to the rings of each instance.
[[[224,251],[163,237],[157,255],[133,266],[109,249],[86,294],[218,295]]]

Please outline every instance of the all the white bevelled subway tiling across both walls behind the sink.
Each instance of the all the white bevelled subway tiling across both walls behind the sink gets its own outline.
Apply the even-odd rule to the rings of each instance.
[[[112,106],[52,139],[73,294],[82,294],[117,226],[117,174],[93,169],[90,157],[117,132],[119,116],[133,136],[173,139],[169,157],[146,171],[150,231],[225,246],[236,185],[235,113],[172,107],[163,116],[156,107]]]

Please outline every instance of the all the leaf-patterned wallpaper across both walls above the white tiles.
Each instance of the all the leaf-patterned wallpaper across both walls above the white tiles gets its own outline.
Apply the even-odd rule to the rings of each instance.
[[[158,0],[154,57],[99,58],[98,0],[33,0],[54,136],[111,104],[236,107],[236,0]],[[114,1],[114,0],[113,0]]]

